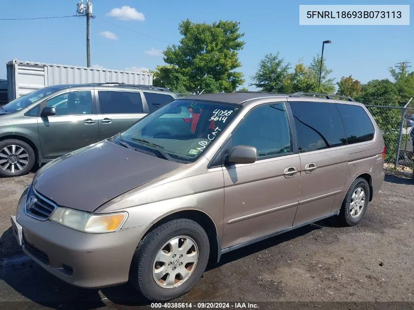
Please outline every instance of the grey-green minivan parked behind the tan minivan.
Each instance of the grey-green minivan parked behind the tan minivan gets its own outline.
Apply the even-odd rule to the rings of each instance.
[[[0,176],[25,174],[35,163],[111,137],[176,97],[118,83],[55,85],[21,96],[0,107]]]

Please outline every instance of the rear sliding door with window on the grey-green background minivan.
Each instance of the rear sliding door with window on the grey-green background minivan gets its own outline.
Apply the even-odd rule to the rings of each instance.
[[[99,140],[124,131],[137,120],[143,118],[141,92],[121,90],[98,90]]]

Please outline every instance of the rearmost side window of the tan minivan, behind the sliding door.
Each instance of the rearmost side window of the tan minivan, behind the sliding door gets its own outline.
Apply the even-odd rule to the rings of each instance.
[[[365,110],[357,105],[337,104],[348,144],[374,139],[374,126]]]

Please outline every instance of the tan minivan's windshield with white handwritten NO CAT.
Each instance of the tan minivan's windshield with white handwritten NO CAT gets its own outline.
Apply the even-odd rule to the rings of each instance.
[[[141,119],[114,143],[177,162],[194,162],[239,113],[228,103],[175,100]]]

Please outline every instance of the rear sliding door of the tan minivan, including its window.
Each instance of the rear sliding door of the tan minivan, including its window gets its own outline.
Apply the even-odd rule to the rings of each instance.
[[[349,152],[335,103],[290,102],[300,157],[299,206],[293,225],[332,212],[341,202]]]

